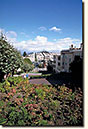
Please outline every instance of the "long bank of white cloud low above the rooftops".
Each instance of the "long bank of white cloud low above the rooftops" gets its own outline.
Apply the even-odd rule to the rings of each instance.
[[[48,41],[48,38],[45,36],[36,36],[32,40],[24,40],[21,42],[17,41],[17,34],[12,33],[14,31],[6,32],[7,41],[9,41],[15,48],[20,51],[61,51],[63,49],[68,49],[71,44],[79,47],[81,41],[79,39],[66,37],[63,39],[53,39],[52,42]],[[11,36],[12,35],[12,36]]]

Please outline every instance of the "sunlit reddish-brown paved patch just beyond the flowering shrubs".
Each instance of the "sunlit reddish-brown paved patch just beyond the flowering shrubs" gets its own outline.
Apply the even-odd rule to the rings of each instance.
[[[29,82],[31,84],[46,84],[46,85],[51,85],[45,78],[41,79],[30,79]]]

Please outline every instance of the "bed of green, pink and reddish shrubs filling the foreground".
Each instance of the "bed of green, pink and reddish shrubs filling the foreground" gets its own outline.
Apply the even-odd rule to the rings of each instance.
[[[0,125],[82,125],[82,91],[30,84],[22,77],[0,83]]]

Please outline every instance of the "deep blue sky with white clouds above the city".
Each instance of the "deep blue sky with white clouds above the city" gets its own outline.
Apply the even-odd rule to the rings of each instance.
[[[79,47],[82,1],[0,0],[0,32],[21,52]]]

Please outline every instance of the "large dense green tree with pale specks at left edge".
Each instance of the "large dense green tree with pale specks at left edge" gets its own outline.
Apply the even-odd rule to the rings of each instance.
[[[0,37],[0,81],[5,74],[12,73],[20,68],[23,64],[23,59],[13,46],[11,46],[1,35]]]

